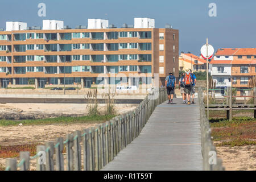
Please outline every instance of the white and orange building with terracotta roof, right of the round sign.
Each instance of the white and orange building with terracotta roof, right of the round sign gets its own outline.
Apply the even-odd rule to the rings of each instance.
[[[214,55],[211,75],[217,86],[249,88],[249,81],[256,76],[256,48],[220,48]],[[237,94],[248,94],[238,90]]]

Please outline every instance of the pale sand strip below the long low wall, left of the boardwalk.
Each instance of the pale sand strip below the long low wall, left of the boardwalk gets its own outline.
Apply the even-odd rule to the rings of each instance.
[[[0,104],[0,113],[14,112],[22,114],[44,113],[44,114],[86,114],[87,104],[44,104],[44,103],[11,103]],[[136,104],[115,104],[117,114],[126,113],[134,109]],[[100,111],[104,112],[105,104],[99,104]]]

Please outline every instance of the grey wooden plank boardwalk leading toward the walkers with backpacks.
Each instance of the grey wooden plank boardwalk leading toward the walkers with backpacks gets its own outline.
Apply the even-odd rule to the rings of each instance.
[[[199,105],[181,102],[157,106],[141,134],[102,170],[202,170]]]

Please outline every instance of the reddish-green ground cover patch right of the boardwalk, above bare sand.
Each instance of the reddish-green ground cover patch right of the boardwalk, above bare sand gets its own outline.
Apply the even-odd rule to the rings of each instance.
[[[256,144],[256,120],[249,117],[210,119],[213,141],[217,146],[243,146]]]

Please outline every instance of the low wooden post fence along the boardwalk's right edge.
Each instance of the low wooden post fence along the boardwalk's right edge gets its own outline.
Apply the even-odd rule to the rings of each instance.
[[[222,171],[222,160],[217,158],[216,148],[210,138],[210,123],[205,115],[205,106],[203,101],[203,92],[199,88],[198,92],[200,104],[200,125],[201,125],[201,151],[203,155],[203,169],[206,171]]]

